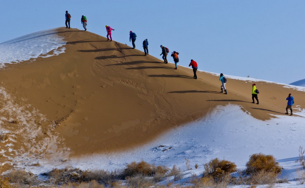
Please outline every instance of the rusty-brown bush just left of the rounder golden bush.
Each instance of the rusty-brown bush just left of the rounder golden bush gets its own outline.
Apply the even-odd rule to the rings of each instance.
[[[214,179],[221,178],[227,173],[235,172],[236,167],[234,162],[215,158],[204,164],[203,176],[212,176]]]

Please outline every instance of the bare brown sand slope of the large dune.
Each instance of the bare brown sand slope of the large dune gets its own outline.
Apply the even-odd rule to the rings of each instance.
[[[253,117],[266,120],[270,113],[285,113],[285,98],[292,93],[297,104],[305,108],[302,91],[256,82],[260,104],[252,104],[249,81],[229,79],[229,94],[224,95],[219,93],[218,76],[198,72],[199,79],[195,80],[192,69],[174,70],[171,63],[143,56],[140,47],[140,50],[131,49],[78,29],[54,30],[67,41],[66,53],[8,65],[0,74],[1,85],[12,95],[13,103],[29,104],[28,111],[35,108],[39,112],[40,119],[33,120],[38,133],[34,138],[14,135],[15,147],[19,148],[23,142],[23,147],[32,152],[37,143],[47,138],[57,145],[56,149],[41,146],[39,152],[35,150],[37,155],[44,153],[44,149],[54,149],[50,152],[54,155],[59,147],[65,148],[61,153],[67,155],[70,150],[74,156],[128,149],[172,127],[203,117],[219,104],[239,104]],[[154,47],[158,48],[149,46]],[[200,70],[209,66],[197,63]],[[225,66],[234,65],[224,65],[219,73],[226,74]],[[14,118],[9,118],[9,113],[5,116],[8,118],[3,124],[7,128],[16,125],[10,122]],[[29,139],[32,142],[26,142]]]

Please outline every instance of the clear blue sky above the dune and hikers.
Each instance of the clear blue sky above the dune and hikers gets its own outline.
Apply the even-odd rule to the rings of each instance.
[[[161,58],[160,45],[180,53],[178,65],[191,59],[198,69],[289,84],[304,79],[305,1],[301,0],[10,0],[2,1],[0,42],[32,32],[65,26],[129,42],[136,49],[148,39],[149,54]],[[173,62],[169,56],[168,60]],[[203,78],[204,79],[204,78]]]

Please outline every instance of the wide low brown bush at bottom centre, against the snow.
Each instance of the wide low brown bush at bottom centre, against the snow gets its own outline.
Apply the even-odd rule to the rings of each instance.
[[[136,163],[135,161],[127,164],[127,168],[124,169],[124,177],[127,176],[135,176],[138,174],[142,174],[144,176],[152,176],[156,173],[163,173],[165,174],[168,171],[167,168],[163,166],[157,166],[148,164],[147,162],[141,161]]]

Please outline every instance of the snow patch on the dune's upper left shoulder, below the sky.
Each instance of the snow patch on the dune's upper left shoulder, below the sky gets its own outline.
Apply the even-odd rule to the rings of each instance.
[[[0,43],[0,67],[5,66],[5,63],[19,63],[64,53],[66,48],[62,46],[65,44],[63,37],[56,35],[53,29]]]

